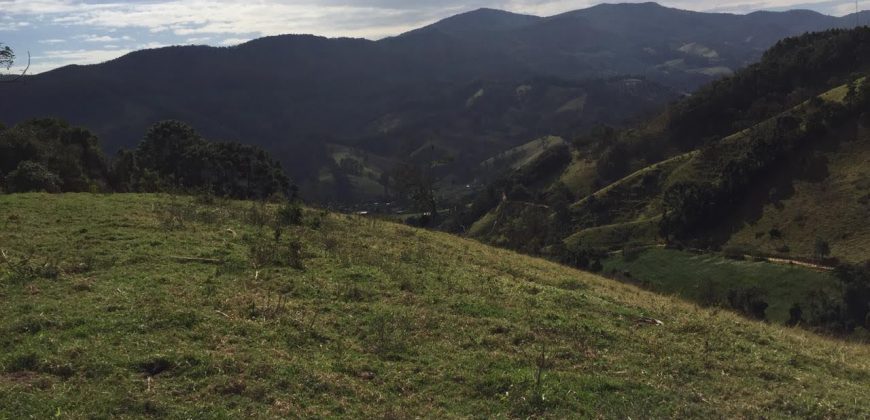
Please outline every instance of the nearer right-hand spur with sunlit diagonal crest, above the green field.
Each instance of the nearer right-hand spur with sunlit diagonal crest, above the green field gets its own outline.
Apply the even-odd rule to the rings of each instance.
[[[867,86],[862,78],[837,87],[581,198],[569,208],[570,226],[562,239],[569,249],[654,245],[666,239],[660,232],[662,216],[673,219],[679,211],[688,213],[678,222],[682,239],[697,247],[813,259],[815,243],[823,240],[831,256],[865,261],[870,255],[870,227],[862,222],[870,214],[870,110],[858,98],[868,96]],[[673,196],[666,203],[669,191],[682,185],[709,196],[686,198],[679,208]],[[499,206],[487,219],[509,218],[499,214],[508,208]],[[503,229],[470,233],[497,244],[512,239]]]

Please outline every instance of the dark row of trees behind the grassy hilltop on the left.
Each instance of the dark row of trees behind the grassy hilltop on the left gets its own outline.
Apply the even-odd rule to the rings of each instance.
[[[265,199],[293,196],[295,186],[263,149],[207,141],[183,122],[154,124],[135,149],[110,159],[91,131],[41,118],[0,126],[0,191],[208,191]]]

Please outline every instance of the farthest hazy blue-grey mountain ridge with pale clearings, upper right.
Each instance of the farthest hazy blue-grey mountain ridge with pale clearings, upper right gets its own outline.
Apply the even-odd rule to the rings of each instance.
[[[806,10],[733,15],[656,3],[600,4],[543,19],[499,14],[510,22],[501,25],[487,24],[491,13],[470,12],[425,30],[516,57],[539,74],[639,74],[687,91],[758,60],[782,38],[855,22]]]

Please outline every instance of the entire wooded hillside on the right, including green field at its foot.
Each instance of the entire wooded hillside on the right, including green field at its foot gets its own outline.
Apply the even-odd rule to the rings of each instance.
[[[508,167],[449,226],[704,305],[824,325],[820,302],[845,287],[833,267],[870,255],[868,57],[870,28],[783,40],[646,122],[536,148],[570,158]]]

